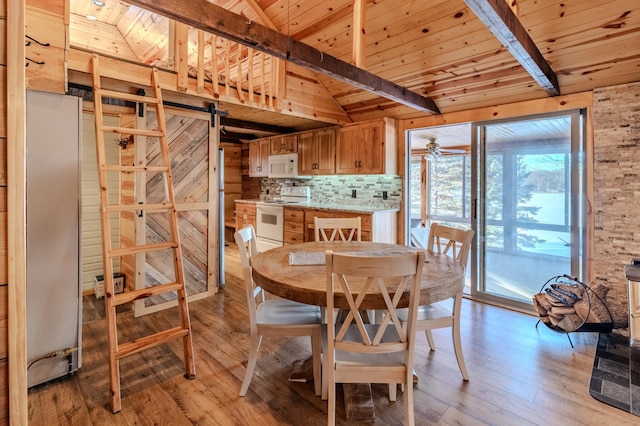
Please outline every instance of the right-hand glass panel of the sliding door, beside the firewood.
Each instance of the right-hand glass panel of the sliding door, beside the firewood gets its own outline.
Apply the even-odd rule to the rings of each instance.
[[[472,126],[471,292],[530,309],[552,276],[583,277],[579,113]]]

